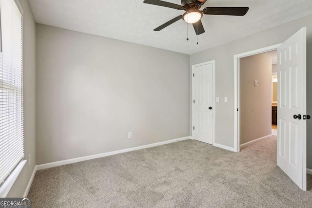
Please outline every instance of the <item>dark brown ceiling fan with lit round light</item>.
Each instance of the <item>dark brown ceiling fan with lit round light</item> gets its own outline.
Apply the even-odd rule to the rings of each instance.
[[[153,4],[157,6],[164,6],[177,10],[184,10],[183,15],[177,16],[174,19],[160,25],[154,31],[160,31],[165,27],[171,25],[177,20],[183,19],[187,23],[193,24],[196,35],[203,34],[205,32],[204,26],[201,22],[201,18],[204,15],[232,15],[232,16],[244,16],[249,10],[249,7],[206,7],[200,11],[200,7],[207,0],[181,0],[182,5],[170,3],[161,0],[144,0],[144,3]]]

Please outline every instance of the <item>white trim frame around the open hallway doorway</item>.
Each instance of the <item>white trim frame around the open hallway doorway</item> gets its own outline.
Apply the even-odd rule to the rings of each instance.
[[[240,63],[239,59],[277,50],[280,44],[234,55],[234,151],[240,152]],[[237,111],[238,109],[238,111]]]

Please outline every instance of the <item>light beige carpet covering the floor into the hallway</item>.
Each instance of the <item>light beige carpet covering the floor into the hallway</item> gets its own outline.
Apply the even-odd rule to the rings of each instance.
[[[39,170],[33,208],[311,208],[276,166],[276,137],[240,153],[195,140]]]

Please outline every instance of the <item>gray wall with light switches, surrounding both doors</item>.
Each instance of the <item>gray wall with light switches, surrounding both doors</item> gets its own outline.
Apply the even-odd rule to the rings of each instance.
[[[234,147],[234,55],[267,47],[284,42],[302,27],[307,27],[307,79],[312,77],[312,16],[271,28],[254,35],[237,39],[235,41],[211,48],[191,55],[190,65],[215,60],[215,92],[221,102],[215,106],[215,142],[228,147]],[[192,70],[190,70],[190,75]],[[192,87],[192,85],[191,85]],[[312,90],[311,81],[307,81],[308,114],[312,114]],[[228,102],[223,102],[221,97],[228,97]],[[191,103],[191,99],[190,99]],[[191,112],[192,113],[192,112]],[[192,114],[191,114],[192,118]],[[192,122],[190,120],[190,122]],[[307,153],[308,168],[312,168],[312,120],[307,121]]]

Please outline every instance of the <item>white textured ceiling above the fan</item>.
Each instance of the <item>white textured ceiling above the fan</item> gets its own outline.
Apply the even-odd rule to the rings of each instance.
[[[180,0],[166,0],[180,4]],[[143,0],[29,0],[38,23],[114,38],[184,54],[243,38],[312,14],[312,0],[208,0],[207,6],[248,6],[243,17],[204,15],[206,33],[196,35],[179,20],[153,29],[182,15],[183,11],[143,3]]]

